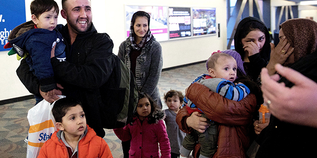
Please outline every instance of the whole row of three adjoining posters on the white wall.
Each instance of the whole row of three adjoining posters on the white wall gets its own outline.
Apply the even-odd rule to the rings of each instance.
[[[132,16],[139,10],[150,14],[150,30],[158,41],[217,32],[216,8],[125,5],[126,37],[130,36]]]

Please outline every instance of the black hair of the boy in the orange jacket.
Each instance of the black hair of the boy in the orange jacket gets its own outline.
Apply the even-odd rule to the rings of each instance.
[[[61,118],[63,118],[66,115],[69,109],[77,105],[80,105],[83,108],[79,100],[76,100],[70,97],[58,99],[55,102],[52,109],[52,113],[53,113],[53,117],[55,118],[55,121],[61,122]]]

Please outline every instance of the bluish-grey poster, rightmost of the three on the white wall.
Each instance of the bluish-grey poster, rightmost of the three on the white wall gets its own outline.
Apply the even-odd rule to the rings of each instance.
[[[193,7],[193,36],[216,34],[216,8]]]

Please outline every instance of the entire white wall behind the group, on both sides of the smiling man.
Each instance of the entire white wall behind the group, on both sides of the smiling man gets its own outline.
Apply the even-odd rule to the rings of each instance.
[[[30,3],[25,0],[26,21],[31,20]],[[55,0],[61,10],[61,0]],[[220,35],[207,35],[181,40],[161,41],[163,52],[163,68],[207,60],[213,51],[226,48],[226,0],[91,0],[93,23],[100,33],[106,32],[113,40],[113,53],[117,54],[119,45],[125,40],[125,10],[124,5],[158,5],[178,7],[216,7],[216,23],[220,24]],[[9,2],[9,1],[8,1]],[[59,24],[66,20],[58,16]],[[150,26],[151,28],[151,26]],[[8,56],[8,51],[0,52],[0,100],[30,95],[15,71],[20,62],[14,55]]]

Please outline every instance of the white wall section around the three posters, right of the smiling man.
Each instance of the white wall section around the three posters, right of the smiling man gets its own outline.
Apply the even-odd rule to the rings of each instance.
[[[207,60],[211,55],[211,52],[218,49],[222,50],[226,47],[226,0],[199,0],[195,2],[193,0],[148,0],[146,3],[144,1],[132,2],[131,0],[118,0],[114,2],[106,0],[105,4],[106,8],[103,9],[106,10],[106,16],[103,18],[106,19],[106,21],[100,20],[100,24],[96,24],[98,25],[96,28],[99,31],[104,29],[103,31],[109,34],[114,43],[114,54],[117,54],[120,43],[125,40],[124,5],[216,7],[216,22],[220,23],[221,37],[218,38],[213,35],[198,38],[184,38],[181,40],[160,41],[163,52],[163,68]],[[94,10],[96,11],[96,9]]]

